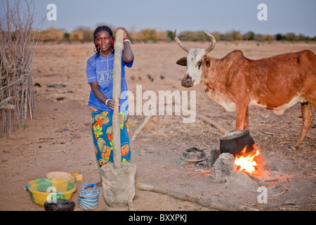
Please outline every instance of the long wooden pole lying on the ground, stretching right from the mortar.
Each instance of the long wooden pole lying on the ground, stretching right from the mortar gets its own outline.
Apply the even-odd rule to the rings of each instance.
[[[143,184],[143,183],[136,183],[136,188],[138,188],[141,191],[152,191],[155,193],[161,193],[164,195],[169,195],[173,198],[177,198],[179,200],[196,203],[198,205],[202,205],[204,207],[209,207],[214,210],[223,210],[223,211],[259,211],[252,207],[247,207],[244,205],[230,205],[230,204],[224,204],[224,203],[216,203],[209,199],[203,199],[203,198],[194,198],[190,195],[186,195],[184,193],[176,192],[176,191],[170,191],[165,188],[159,188],[158,186],[150,185],[150,184]]]

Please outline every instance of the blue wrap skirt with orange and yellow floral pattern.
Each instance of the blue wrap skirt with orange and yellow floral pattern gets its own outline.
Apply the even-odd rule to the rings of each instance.
[[[105,112],[92,108],[91,128],[94,150],[98,168],[107,163],[113,163],[113,133],[112,112]],[[119,127],[121,127],[121,162],[131,162],[131,148],[129,145],[129,121],[127,110],[119,112]]]

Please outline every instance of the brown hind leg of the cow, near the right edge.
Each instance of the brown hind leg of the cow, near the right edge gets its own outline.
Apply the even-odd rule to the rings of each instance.
[[[303,117],[303,126],[301,129],[301,134],[298,136],[298,139],[294,144],[294,148],[298,148],[298,146],[301,145],[308,129],[310,128],[310,124],[312,124],[312,120],[314,120],[314,115],[312,115],[312,104],[310,102],[301,103],[301,111]]]

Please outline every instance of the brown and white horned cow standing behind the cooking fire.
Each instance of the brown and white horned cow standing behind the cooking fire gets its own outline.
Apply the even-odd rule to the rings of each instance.
[[[251,60],[242,51],[232,51],[224,58],[206,56],[216,44],[211,39],[207,49],[190,49],[176,36],[187,57],[178,65],[187,66],[182,86],[202,84],[206,94],[229,112],[237,110],[236,130],[249,129],[248,105],[256,105],[281,115],[297,102],[301,103],[303,127],[294,148],[298,148],[314,120],[316,107],[316,56],[304,50],[270,58]],[[293,147],[291,147],[293,148]]]

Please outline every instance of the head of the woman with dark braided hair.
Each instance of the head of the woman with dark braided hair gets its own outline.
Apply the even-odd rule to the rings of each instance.
[[[109,50],[114,51],[113,33],[110,27],[97,27],[96,30],[93,32],[93,39],[96,47],[96,57],[100,56],[100,50],[102,50],[103,53]]]

